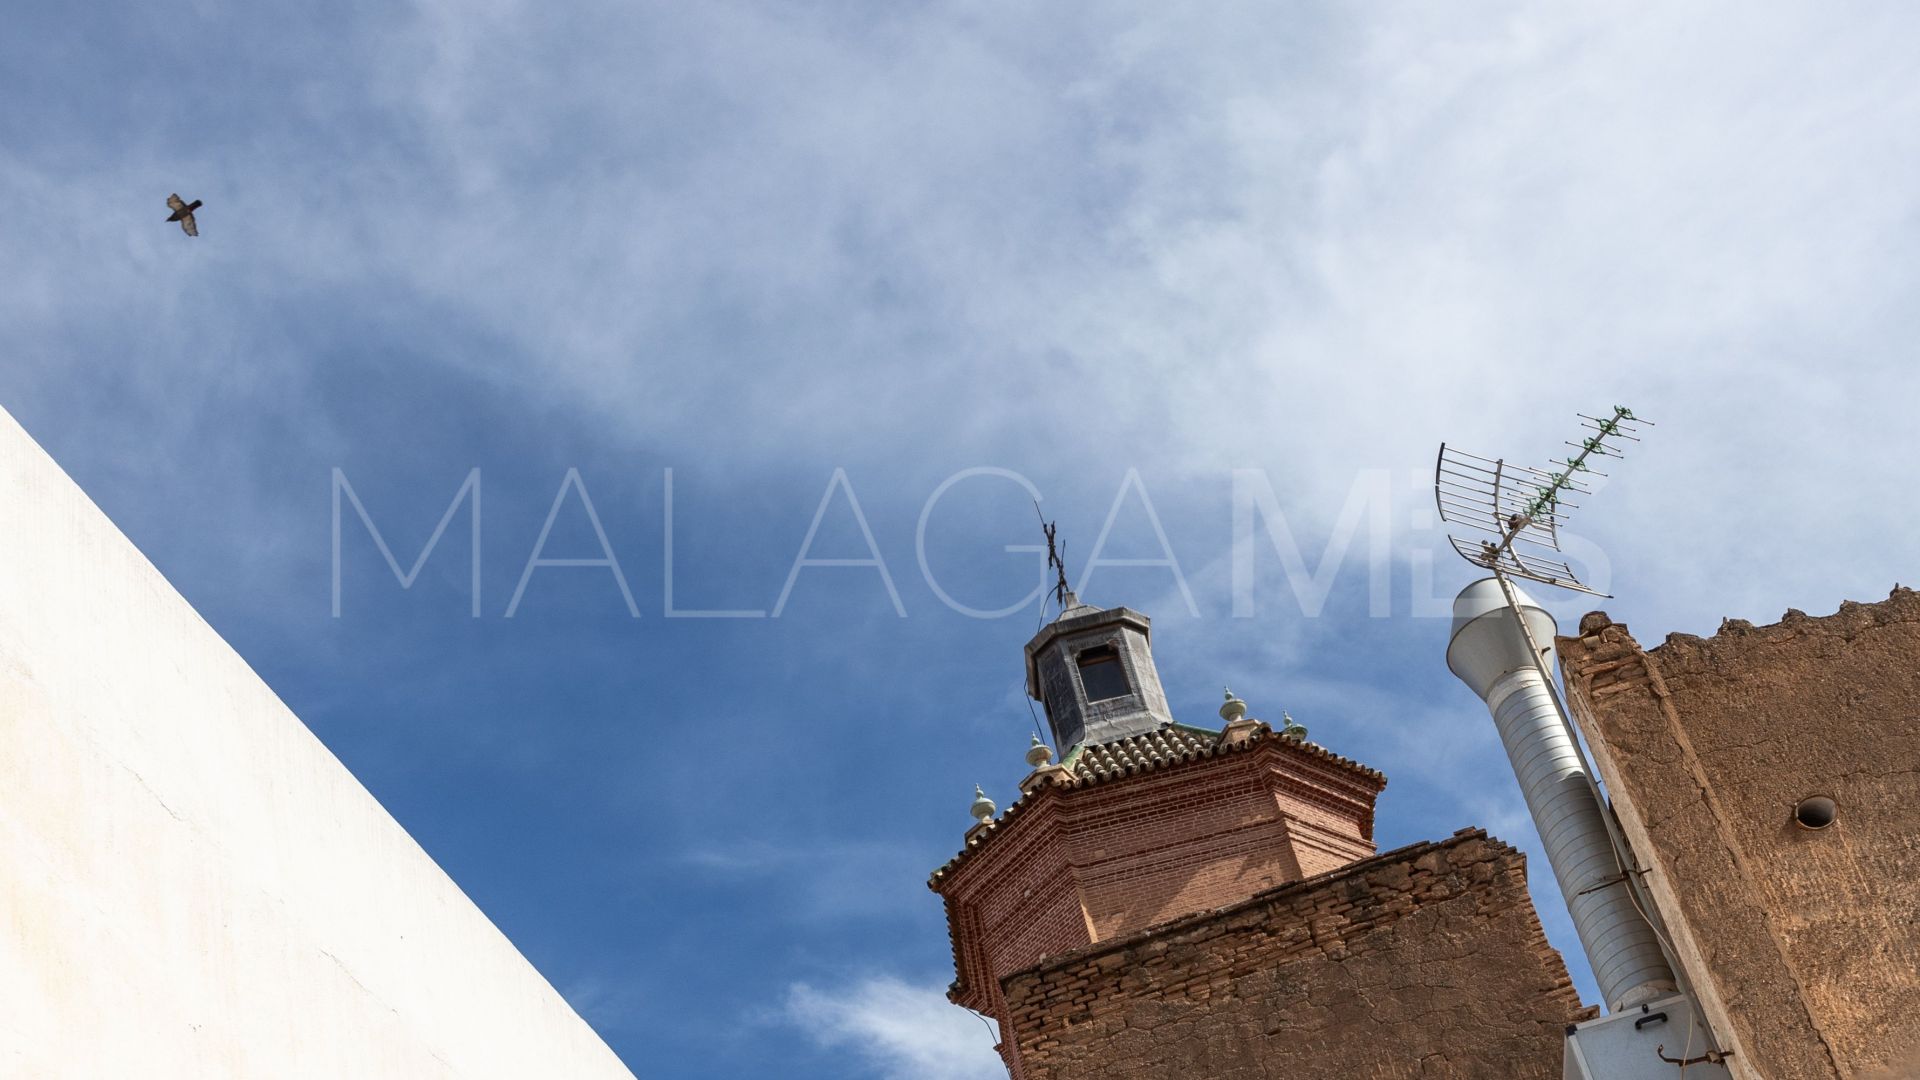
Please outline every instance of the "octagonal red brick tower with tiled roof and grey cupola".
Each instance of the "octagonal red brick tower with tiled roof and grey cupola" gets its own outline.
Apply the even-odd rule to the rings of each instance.
[[[1046,707],[1060,761],[1035,744],[1021,798],[979,824],[929,888],[947,901],[954,1003],[1000,1022],[1025,1080],[1002,980],[1048,957],[1367,859],[1386,776],[1275,732],[1246,703],[1221,730],[1177,723],[1160,688],[1150,621],[1073,600],[1027,642],[1027,694]]]

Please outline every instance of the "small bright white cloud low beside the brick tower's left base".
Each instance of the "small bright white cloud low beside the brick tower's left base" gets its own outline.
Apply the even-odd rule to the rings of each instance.
[[[872,976],[835,990],[795,984],[785,1019],[885,1080],[1006,1080],[995,1036],[933,986]]]

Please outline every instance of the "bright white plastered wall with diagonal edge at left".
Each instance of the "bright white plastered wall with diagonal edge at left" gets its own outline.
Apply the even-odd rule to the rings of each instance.
[[[4,411],[0,1076],[632,1076]]]

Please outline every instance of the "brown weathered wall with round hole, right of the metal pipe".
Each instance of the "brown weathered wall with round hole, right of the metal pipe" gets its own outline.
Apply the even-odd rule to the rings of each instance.
[[[1574,715],[1738,1076],[1920,1049],[1920,596],[1642,650],[1561,638]],[[1826,830],[1793,807],[1828,796]]]

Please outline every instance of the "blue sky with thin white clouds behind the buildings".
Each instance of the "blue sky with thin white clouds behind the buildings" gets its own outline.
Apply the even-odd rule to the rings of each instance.
[[[1110,559],[1171,550],[1198,617],[1169,567],[1085,592],[1156,617],[1181,719],[1231,682],[1390,774],[1382,847],[1532,849],[1442,663],[1434,448],[1657,419],[1576,538],[1645,644],[1920,577],[1916,23],[27,0],[0,404],[641,1076],[981,1080],[924,880],[1023,773],[1037,611],[941,600],[929,496],[1008,469],[1081,567],[1110,521]],[[334,469],[403,563],[482,471],[480,619],[465,517],[403,592],[351,511],[332,617]],[[639,619],[605,567],[505,617],[568,469]],[[664,469],[678,607],[772,611],[831,492],[812,555],[864,519],[906,617],[874,567],[664,617]],[[1233,615],[1236,469],[1323,601],[1261,532]],[[1033,540],[1006,479],[927,515],[970,607]],[[599,553],[568,492],[545,555]]]

